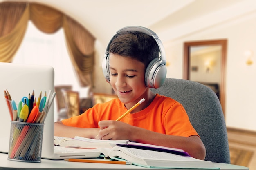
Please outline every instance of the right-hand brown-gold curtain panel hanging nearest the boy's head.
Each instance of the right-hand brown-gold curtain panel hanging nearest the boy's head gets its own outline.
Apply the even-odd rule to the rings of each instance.
[[[88,31],[68,16],[64,16],[63,29],[70,52],[71,61],[80,80],[80,84],[88,84],[92,81],[88,75],[92,75],[94,65],[94,37]],[[85,41],[86,40],[86,41]],[[81,71],[79,71],[81,70]],[[92,81],[93,82],[93,81]]]

